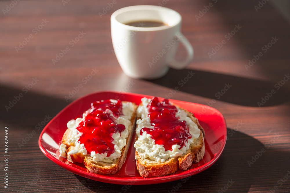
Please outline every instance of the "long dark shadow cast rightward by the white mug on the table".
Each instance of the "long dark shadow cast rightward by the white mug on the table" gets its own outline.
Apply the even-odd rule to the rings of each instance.
[[[243,106],[258,107],[258,102],[261,107],[274,106],[286,102],[290,96],[277,82],[191,69],[170,69],[164,77],[149,81],[171,88],[167,94],[169,98],[177,90]]]

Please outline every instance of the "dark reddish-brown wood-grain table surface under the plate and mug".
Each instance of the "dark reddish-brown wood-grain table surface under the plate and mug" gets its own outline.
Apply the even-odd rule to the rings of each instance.
[[[112,2],[0,1],[0,144],[1,155],[6,155],[4,130],[9,127],[10,155],[9,189],[4,188],[5,157],[0,160],[0,192],[290,192],[290,25],[276,7],[270,1],[259,5],[258,0],[117,0],[108,8]],[[204,10],[209,3],[210,9]],[[181,14],[182,33],[195,51],[186,69],[170,69],[152,81],[123,73],[112,54],[110,15],[142,4],[164,5]],[[84,36],[53,64],[80,32]],[[184,57],[180,46],[176,58]],[[92,69],[97,74],[66,101]],[[228,140],[220,159],[186,183],[124,188],[75,175],[40,151],[46,117],[81,96],[114,90],[165,97],[189,71],[195,75],[171,98],[218,109],[227,123]],[[230,89],[218,94],[225,84]],[[31,138],[23,142],[26,136]],[[249,163],[262,148],[265,152]]]

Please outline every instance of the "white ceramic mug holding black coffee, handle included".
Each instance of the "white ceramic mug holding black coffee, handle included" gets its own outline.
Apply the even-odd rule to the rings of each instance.
[[[126,25],[138,21],[138,27]],[[144,27],[142,21],[166,25]],[[186,67],[193,58],[193,48],[180,29],[180,14],[169,8],[136,5],[115,11],[111,16],[112,42],[124,73],[132,78],[155,79],[164,76],[169,67]],[[179,41],[187,51],[183,62],[174,59]]]

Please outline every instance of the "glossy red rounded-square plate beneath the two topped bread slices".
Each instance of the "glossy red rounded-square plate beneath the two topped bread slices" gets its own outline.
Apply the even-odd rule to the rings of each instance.
[[[106,99],[120,99],[139,104],[141,102],[141,98],[143,97],[152,98],[152,96],[148,95],[117,93],[113,91],[92,93],[79,98],[70,103],[46,125],[39,136],[39,148],[44,155],[46,155],[46,157],[70,172],[92,180],[113,184],[130,183],[134,185],[142,185],[179,180],[206,170],[218,160],[224,150],[227,136],[227,128],[224,117],[218,110],[212,107],[178,100],[170,101],[194,113],[195,117],[199,120],[200,125],[205,131],[205,155],[199,163],[193,164],[187,171],[178,170],[174,174],[163,177],[141,177],[136,169],[135,162],[135,148],[133,146],[135,142],[135,134],[133,135],[126,161],[121,170],[119,170],[116,174],[101,175],[87,172],[87,169],[83,164],[70,163],[67,159],[59,157],[58,148],[61,144],[62,136],[67,129],[66,123],[89,109],[91,102]]]

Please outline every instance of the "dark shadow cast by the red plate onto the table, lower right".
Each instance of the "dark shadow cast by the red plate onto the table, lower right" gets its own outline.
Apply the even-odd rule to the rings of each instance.
[[[279,137],[274,136],[275,134],[273,134],[272,143]],[[289,153],[271,148],[270,141],[269,144],[262,144],[253,137],[230,128],[228,128],[228,137],[218,161],[209,169],[189,179],[152,185],[131,185],[131,183],[116,185],[75,176],[94,192],[182,192],[188,190],[224,192],[225,189],[228,192],[248,192],[252,186],[258,188],[257,190],[269,191],[275,185],[278,185],[280,190],[287,188],[287,185],[280,186],[277,181],[288,172],[289,164],[280,160],[289,157]],[[277,180],[269,182],[267,177]]]

